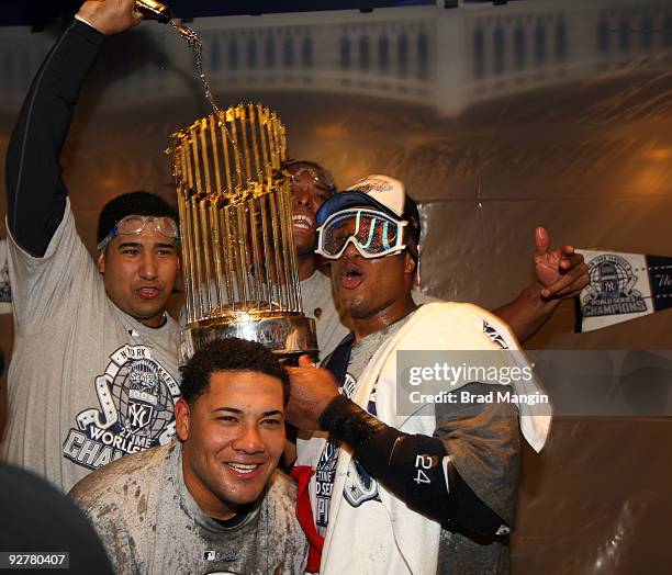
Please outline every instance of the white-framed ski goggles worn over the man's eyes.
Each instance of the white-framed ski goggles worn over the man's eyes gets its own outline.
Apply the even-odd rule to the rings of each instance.
[[[324,258],[337,260],[348,244],[354,244],[362,258],[381,258],[402,251],[407,222],[377,210],[354,207],[331,215],[317,228],[317,249]]]

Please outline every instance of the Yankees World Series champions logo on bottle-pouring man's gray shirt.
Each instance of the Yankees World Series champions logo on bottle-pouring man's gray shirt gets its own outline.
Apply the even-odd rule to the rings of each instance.
[[[165,444],[175,437],[175,379],[145,346],[123,346],[110,356],[103,375],[96,377],[100,409],[77,415],[63,453],[96,470],[128,453]]]

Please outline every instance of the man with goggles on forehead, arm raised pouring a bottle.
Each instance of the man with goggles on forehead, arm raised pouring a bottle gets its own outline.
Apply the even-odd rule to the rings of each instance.
[[[94,263],[58,161],[87,72],[105,35],[139,22],[134,7],[82,4],[33,82],[8,148],[15,335],[0,460],[64,492],[175,435],[179,326],[166,304],[180,272],[178,215],[153,193],[113,199],[100,213]]]

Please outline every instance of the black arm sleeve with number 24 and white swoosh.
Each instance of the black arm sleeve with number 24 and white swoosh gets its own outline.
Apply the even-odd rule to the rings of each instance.
[[[320,426],[347,442],[354,458],[411,509],[489,538],[509,531],[462,478],[439,438],[404,433],[344,396],[329,403]]]

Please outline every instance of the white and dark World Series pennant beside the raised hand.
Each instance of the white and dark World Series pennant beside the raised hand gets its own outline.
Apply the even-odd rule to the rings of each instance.
[[[593,331],[672,307],[672,257],[576,250],[591,283],[579,295],[576,331]]]

